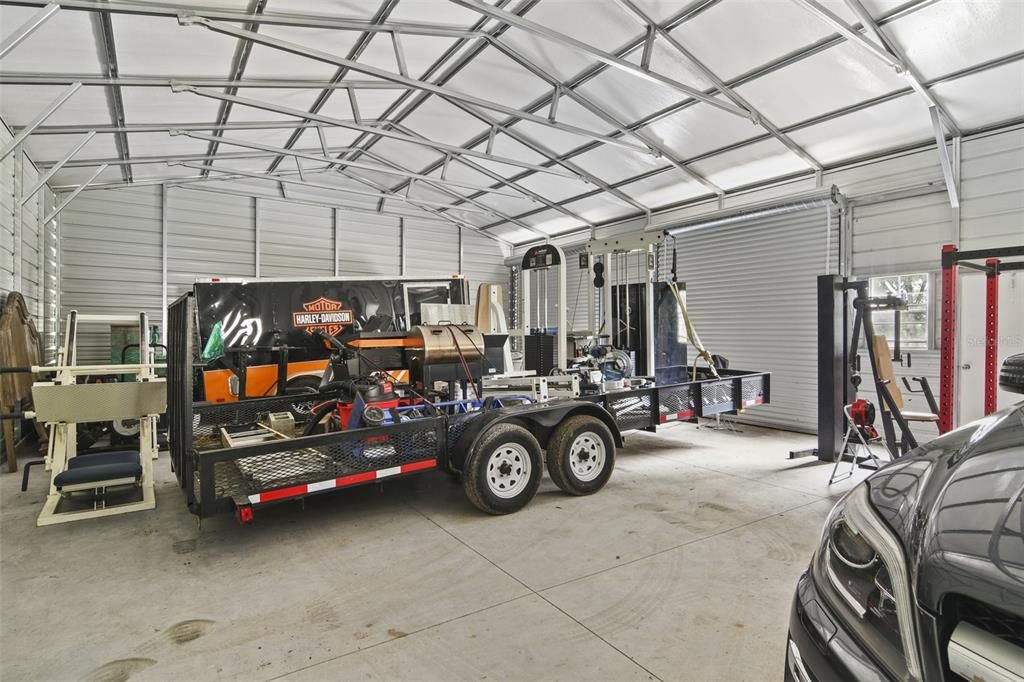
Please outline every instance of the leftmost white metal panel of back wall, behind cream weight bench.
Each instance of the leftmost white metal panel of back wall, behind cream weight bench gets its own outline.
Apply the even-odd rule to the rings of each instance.
[[[160,187],[83,191],[60,218],[61,318],[144,310],[160,324]],[[109,333],[83,327],[81,336],[80,363],[110,360]]]

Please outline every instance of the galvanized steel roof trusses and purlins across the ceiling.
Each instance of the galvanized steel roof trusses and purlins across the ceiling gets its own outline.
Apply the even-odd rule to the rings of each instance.
[[[219,183],[217,185],[219,187],[223,185],[225,179],[243,182],[262,180],[279,183],[279,187],[286,198],[288,198],[288,193],[285,193],[286,185],[306,185],[321,190],[338,191],[339,196],[349,191],[352,195],[376,199],[378,211],[384,209],[385,202],[398,201],[407,204],[412,211],[422,212],[426,218],[446,220],[455,225],[465,226],[484,235],[488,229],[506,225],[519,227],[538,238],[546,239],[553,235],[550,235],[549,230],[540,229],[529,224],[526,219],[554,210],[581,225],[581,227],[568,228],[568,231],[581,228],[593,229],[598,223],[586,219],[577,211],[568,208],[573,203],[589,198],[597,196],[613,198],[635,211],[630,212],[629,215],[616,216],[613,218],[614,221],[644,214],[650,215],[652,209],[665,208],[645,205],[627,194],[624,187],[673,170],[691,178],[708,190],[707,195],[690,199],[689,202],[702,201],[715,196],[722,197],[726,194],[725,189],[710,181],[701,173],[696,172],[692,165],[765,140],[777,140],[807,165],[807,171],[791,173],[786,175],[786,178],[813,172],[820,173],[824,170],[823,164],[798,144],[791,137],[792,133],[900,97],[910,96],[913,93],[921,95],[929,109],[933,122],[934,142],[944,146],[943,127],[945,131],[956,137],[962,134],[962,126],[953,120],[943,102],[933,92],[933,88],[942,83],[1024,59],[1024,50],[1019,50],[1013,54],[990,59],[984,63],[975,63],[929,81],[924,79],[922,73],[907,59],[906,52],[887,33],[885,27],[939,0],[908,0],[879,18],[872,17],[860,0],[845,0],[852,16],[858,19],[856,24],[847,23],[846,19],[824,6],[820,0],[793,0],[795,4],[827,23],[837,33],[726,81],[719,78],[712,69],[687,49],[684,42],[673,32],[707,9],[730,0],[694,0],[675,14],[662,20],[655,20],[638,0],[613,0],[623,10],[624,16],[638,25],[637,35],[614,50],[607,50],[605,47],[578,40],[553,28],[543,26],[539,20],[527,18],[525,14],[543,0],[519,0],[518,2],[499,0],[494,6],[480,0],[450,1],[477,12],[479,18],[471,26],[465,27],[395,20],[392,18],[392,14],[400,0],[382,0],[370,18],[266,11],[267,0],[251,0],[246,10],[223,9],[201,4],[181,5],[173,2],[141,2],[138,0],[68,0],[59,3],[49,0],[0,0],[0,4],[3,5],[38,8],[38,11],[32,14],[25,24],[17,27],[0,43],[0,57],[25,44],[27,38],[41,27],[46,26],[58,13],[85,11],[90,13],[93,23],[93,38],[101,69],[99,75],[0,73],[0,85],[63,86],[66,88],[53,102],[42,108],[40,114],[31,122],[12,127],[14,138],[3,147],[0,156],[6,157],[18,148],[30,135],[74,134],[80,136],[79,139],[71,142],[70,147],[65,147],[66,151],[61,152],[60,159],[55,161],[37,160],[37,165],[41,171],[45,172],[29,196],[23,197],[23,202],[28,201],[28,198],[41,188],[42,183],[52,180],[62,169],[94,168],[95,171],[85,182],[54,187],[55,190],[67,193],[54,212],[67,206],[79,193],[102,187],[166,183],[168,186],[187,185],[200,190],[211,190],[214,183]],[[276,5],[270,6],[276,7]],[[115,44],[116,35],[112,23],[112,14],[115,13],[173,18],[181,25],[198,25],[209,31],[233,36],[238,39],[238,45],[232,54],[231,62],[225,69],[225,77],[189,77],[184,74],[162,77],[145,73],[121,76]],[[304,44],[305,41],[282,40],[268,36],[261,33],[260,28],[263,26],[348,31],[358,32],[360,35],[345,56],[340,56],[316,50]],[[541,66],[525,50],[514,47],[508,40],[507,34],[510,31],[525,32],[539,37],[542,42],[553,42],[562,48],[587,55],[594,62],[572,78],[563,79]],[[378,35],[382,39],[390,41],[388,47],[393,52],[396,71],[381,69],[364,60],[371,40]],[[432,63],[414,63],[410,61],[409,50],[411,47],[403,40],[406,36],[429,36],[446,39],[451,44],[440,51],[439,56]],[[765,118],[762,112],[736,92],[736,88],[745,83],[785,69],[801,59],[843,42],[849,42],[862,50],[865,58],[869,56],[870,59],[876,59],[902,74],[906,78],[907,87],[879,94],[785,126],[774,125]],[[245,72],[249,55],[255,44],[330,63],[337,70],[330,79],[249,79],[246,78]],[[652,71],[651,56],[655,46],[658,45],[678,54],[695,70],[695,73],[701,75],[705,83],[711,83],[711,87],[692,87],[665,74]],[[511,59],[522,70],[524,78],[537,79],[539,83],[543,83],[547,89],[545,94],[537,97],[525,106],[515,108],[479,96],[470,89],[453,87],[450,81],[472,63],[487,47],[492,47]],[[173,58],[173,56],[169,58]],[[424,66],[427,68],[423,69]],[[615,114],[610,106],[601,101],[600,97],[589,91],[580,90],[582,85],[608,69],[614,69],[647,83],[669,88],[681,96],[670,105],[631,122],[622,115]],[[355,74],[365,74],[366,78],[352,78]],[[104,88],[111,123],[43,125],[81,87]],[[190,92],[198,96],[217,100],[219,102],[217,115],[215,120],[209,122],[134,123],[126,121],[122,99],[122,89],[125,87],[163,87],[169,88],[173,92]],[[252,94],[253,96],[240,95],[239,93],[244,88],[250,88],[246,95]],[[255,92],[259,89],[315,89],[318,90],[318,93],[313,103],[306,110],[293,109],[261,98]],[[322,114],[325,104],[338,90],[344,90],[352,102],[352,119],[341,119]],[[357,93],[371,90],[392,90],[397,93],[397,96],[384,109],[382,114],[374,118],[364,118],[359,111]],[[431,139],[418,132],[415,129],[417,126],[412,124],[411,127],[406,123],[406,120],[430,97],[437,97],[472,117],[484,128],[483,132],[473,134],[462,144],[452,143],[447,141],[447,138],[443,142]],[[579,109],[595,117],[595,121],[606,125],[607,128],[604,129],[601,124],[590,124],[589,127],[586,127],[577,122],[569,123],[559,111],[560,104],[566,102],[572,102]],[[697,103],[707,103],[718,110],[748,118],[755,125],[760,126],[760,130],[755,130],[756,134],[746,139],[731,141],[689,158],[680,158],[680,155],[673,153],[668,144],[658,140],[646,129],[651,124]],[[237,110],[237,105],[284,115],[291,120],[232,120],[236,118],[232,116],[232,110]],[[538,136],[527,132],[527,127],[520,125],[522,122],[543,126],[561,133],[578,135],[585,138],[585,141],[567,151],[556,153],[543,143]],[[298,148],[297,144],[301,135],[310,128],[316,130],[319,148]],[[344,145],[330,145],[327,131],[333,128],[352,130],[357,133],[357,136],[354,141]],[[281,145],[280,142],[267,144],[263,143],[262,140],[248,141],[232,138],[226,134],[230,131],[283,129],[291,131],[284,145]],[[166,132],[171,135],[204,140],[207,142],[207,148],[205,154],[133,154],[129,148],[130,135],[152,132]],[[116,157],[81,158],[79,156],[90,140],[93,140],[96,135],[103,134],[114,135]],[[496,154],[496,144],[506,138],[529,150],[541,157],[543,161],[523,160],[516,157],[514,153],[507,153],[506,156]],[[410,164],[390,159],[389,156],[394,156],[393,153],[383,152],[383,150],[381,153],[375,151],[374,147],[382,140],[394,140],[402,145],[413,144],[430,148],[437,153],[440,158],[422,168],[410,168]],[[920,145],[923,142],[919,140],[913,143]],[[225,145],[241,147],[242,151],[225,151]],[[623,154],[652,156],[660,159],[664,165],[617,179],[614,182],[608,182],[600,176],[600,171],[590,171],[573,161],[587,152],[607,146],[617,147],[623,151]],[[219,165],[213,166],[213,163],[217,161],[261,158],[270,160],[266,172],[262,173],[221,168]],[[295,164],[294,172],[280,170],[280,164],[285,160]],[[941,156],[940,161],[943,161]],[[489,167],[486,162],[494,162],[510,168],[496,170]],[[450,178],[447,171],[452,163],[459,164],[473,173],[488,178],[492,183],[488,184],[487,181],[480,180],[465,181],[465,178],[459,180]],[[133,169],[133,166],[157,164],[183,165],[199,169],[201,173],[199,177],[168,174],[165,177],[136,179],[135,174],[138,171],[137,168]],[[835,164],[831,166],[835,167]],[[120,169],[122,174],[120,182],[97,181],[102,172],[109,168]],[[948,180],[950,172],[947,172],[947,164],[943,164],[943,170]],[[324,184],[310,180],[310,176],[323,173],[343,176],[352,182],[367,185],[370,189],[349,189],[348,187],[338,187],[335,184]],[[370,177],[366,173],[374,175]],[[543,188],[535,188],[537,185],[522,183],[523,180],[538,173],[582,180],[592,185],[592,188],[553,201],[549,196],[546,196],[549,193]],[[208,174],[210,174],[209,177],[204,177]],[[296,175],[298,175],[297,178]],[[393,181],[381,179],[380,176],[394,179]],[[774,182],[781,179],[771,178],[762,182]],[[437,195],[431,195],[430,199],[418,198],[413,191],[417,185],[430,188],[444,198],[451,198],[451,200],[450,202],[446,199],[437,201],[440,198]],[[730,188],[731,191],[736,189],[736,187]],[[256,191],[255,187],[253,191]],[[260,194],[260,196],[264,195]],[[497,202],[499,197],[520,199],[532,202],[536,206],[519,213],[505,212],[490,206],[492,203]],[[955,203],[957,199],[952,193],[950,194],[952,203]],[[345,210],[366,210],[366,207],[351,205],[337,207]],[[460,217],[458,214],[461,212],[489,214],[495,216],[495,221],[483,225],[474,225]],[[415,217],[416,214],[401,213],[400,215]],[[477,219],[477,223],[479,222]],[[496,236],[489,237],[496,238]],[[500,238],[499,241],[501,241]]]

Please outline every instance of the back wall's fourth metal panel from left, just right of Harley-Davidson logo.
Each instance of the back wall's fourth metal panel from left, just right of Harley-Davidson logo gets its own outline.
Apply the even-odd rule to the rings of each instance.
[[[338,211],[338,275],[401,273],[399,218]],[[409,254],[409,259],[417,258]]]

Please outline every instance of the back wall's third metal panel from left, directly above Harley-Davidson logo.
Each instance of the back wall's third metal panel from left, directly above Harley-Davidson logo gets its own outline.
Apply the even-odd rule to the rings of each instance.
[[[258,219],[260,276],[334,275],[332,209],[262,199]]]

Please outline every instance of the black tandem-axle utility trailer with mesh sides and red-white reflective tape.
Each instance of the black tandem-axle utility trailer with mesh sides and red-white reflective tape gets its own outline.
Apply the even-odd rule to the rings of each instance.
[[[194,402],[196,318],[190,294],[169,308],[167,381],[171,463],[189,510],[200,517],[233,511],[247,522],[263,505],[429,469],[459,476],[477,508],[513,512],[536,494],[545,464],[566,493],[594,493],[611,475],[623,431],[653,431],[770,398],[767,373],[720,370],[715,378],[697,370],[696,380],[679,384],[541,403],[462,401],[389,425],[248,444],[240,437],[243,444],[224,446],[225,434],[244,435],[271,415],[301,423],[330,396]]]

